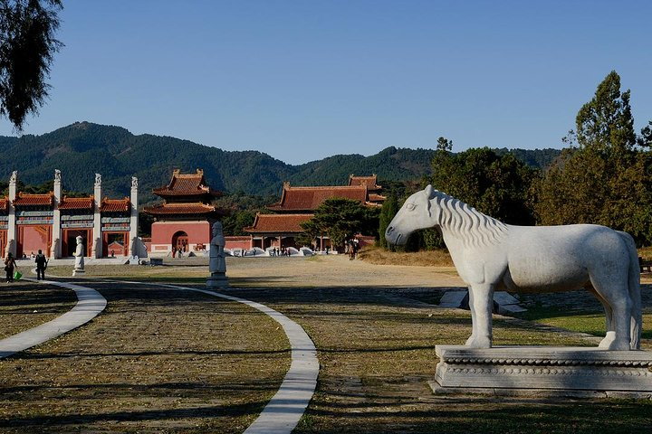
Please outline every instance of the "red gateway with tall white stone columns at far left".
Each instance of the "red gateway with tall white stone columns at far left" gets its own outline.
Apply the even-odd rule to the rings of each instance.
[[[9,180],[9,195],[0,198],[0,243],[5,257],[32,256],[38,250],[49,258],[72,256],[76,237],[82,236],[85,254],[109,256],[109,244],[120,244],[120,256],[145,255],[138,240],[138,180],[131,180],[131,196],[101,198],[101,175],[95,175],[94,191],[87,197],[62,196],[62,176],[54,171],[53,192],[16,191],[17,172]],[[135,246],[135,247],[134,247]]]

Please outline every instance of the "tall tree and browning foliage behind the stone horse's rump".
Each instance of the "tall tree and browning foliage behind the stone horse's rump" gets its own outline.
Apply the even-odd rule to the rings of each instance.
[[[629,90],[615,71],[576,118],[570,144],[546,171],[537,212],[543,224],[597,223],[628,231],[638,243],[652,241],[650,153],[637,146]]]

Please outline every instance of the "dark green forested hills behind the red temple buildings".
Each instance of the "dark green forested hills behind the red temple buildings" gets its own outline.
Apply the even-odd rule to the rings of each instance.
[[[557,150],[518,150],[531,165],[547,165]],[[155,199],[152,188],[168,184],[172,170],[204,169],[206,182],[229,193],[279,194],[292,185],[344,184],[350,174],[379,179],[418,179],[431,172],[432,149],[388,147],[375,156],[331,156],[304,165],[287,165],[258,151],[223,151],[174,137],[134,136],[122,127],[76,122],[42,136],[0,136],[0,180],[17,170],[25,184],[42,184],[62,171],[63,188],[92,193],[94,174],[102,175],[104,193],[129,195],[131,176],[139,178],[141,202]]]

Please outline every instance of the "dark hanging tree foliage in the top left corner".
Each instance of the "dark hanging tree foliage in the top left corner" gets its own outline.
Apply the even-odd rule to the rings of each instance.
[[[22,130],[48,96],[60,0],[0,0],[0,115]]]

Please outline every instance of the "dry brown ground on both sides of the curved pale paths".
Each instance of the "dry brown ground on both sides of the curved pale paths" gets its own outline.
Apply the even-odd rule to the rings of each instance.
[[[109,307],[79,330],[0,361],[0,432],[242,432],[254,420],[289,365],[276,323],[201,294],[91,279],[197,288],[206,279],[205,259],[166,263],[177,266],[87,269],[84,284],[107,297]],[[462,286],[454,269],[343,257],[234,258],[227,267],[234,288],[223,292],[290,316],[317,346],[317,392],[296,432],[652,429],[650,401],[433,395],[427,381],[435,345],[462,344],[470,333],[467,312],[423,302]],[[33,294],[35,285],[21,285],[11,290]],[[649,309],[652,291],[644,290]],[[8,301],[20,298],[16,292]],[[5,324],[14,307],[0,300],[0,334],[11,334]],[[523,320],[496,316],[494,323],[496,344],[593,344]]]

